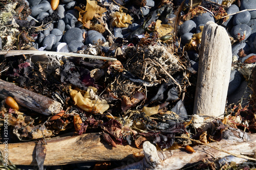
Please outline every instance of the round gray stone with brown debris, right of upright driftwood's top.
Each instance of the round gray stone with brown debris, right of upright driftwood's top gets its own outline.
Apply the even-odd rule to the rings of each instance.
[[[240,24],[232,28],[230,35],[234,39],[240,39],[241,41],[245,41],[251,35],[251,28],[246,24]]]

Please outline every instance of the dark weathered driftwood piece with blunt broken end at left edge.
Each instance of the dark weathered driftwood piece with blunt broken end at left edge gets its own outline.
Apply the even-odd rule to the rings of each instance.
[[[50,115],[62,110],[59,102],[56,102],[46,96],[18,87],[12,83],[0,80],[0,98],[5,99],[11,96],[23,107],[31,109],[41,114]]]

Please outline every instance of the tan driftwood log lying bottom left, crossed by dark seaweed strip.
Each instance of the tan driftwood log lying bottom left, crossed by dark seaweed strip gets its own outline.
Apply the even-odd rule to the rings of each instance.
[[[131,159],[132,154],[142,151],[130,145],[111,147],[100,141],[100,134],[90,133],[81,136],[66,136],[46,140],[44,165],[61,165],[78,162],[117,161]],[[4,151],[5,145],[0,144]],[[8,159],[16,165],[37,165],[35,161],[35,142],[9,143]]]

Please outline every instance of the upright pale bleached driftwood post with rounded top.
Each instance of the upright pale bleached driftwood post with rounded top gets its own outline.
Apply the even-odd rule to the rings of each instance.
[[[224,114],[231,63],[231,43],[226,30],[207,22],[199,52],[194,114]]]

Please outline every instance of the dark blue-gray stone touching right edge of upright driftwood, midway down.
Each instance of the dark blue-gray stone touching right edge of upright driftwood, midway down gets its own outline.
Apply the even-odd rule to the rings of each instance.
[[[242,78],[243,75],[241,75],[241,73],[237,69],[234,69],[230,72],[227,95],[230,95],[237,90],[237,88],[241,84]]]

